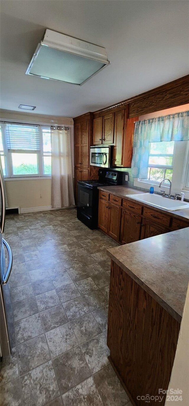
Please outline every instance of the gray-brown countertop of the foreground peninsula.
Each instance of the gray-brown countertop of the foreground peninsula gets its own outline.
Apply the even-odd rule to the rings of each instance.
[[[178,322],[189,281],[189,227],[107,250]]]

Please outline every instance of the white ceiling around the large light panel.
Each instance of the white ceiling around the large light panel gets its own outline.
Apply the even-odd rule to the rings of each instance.
[[[189,73],[189,2],[2,0],[1,108],[76,117]],[[82,86],[25,75],[46,28],[106,48],[110,65]]]

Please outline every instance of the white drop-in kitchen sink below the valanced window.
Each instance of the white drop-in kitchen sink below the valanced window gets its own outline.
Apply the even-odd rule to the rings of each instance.
[[[126,196],[164,210],[174,211],[187,209],[189,207],[189,203],[182,202],[181,200],[168,199],[155,193],[127,194]]]

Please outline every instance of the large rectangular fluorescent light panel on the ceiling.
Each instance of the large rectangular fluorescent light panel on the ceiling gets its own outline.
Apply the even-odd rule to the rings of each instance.
[[[81,85],[108,64],[105,48],[47,29],[26,74]]]

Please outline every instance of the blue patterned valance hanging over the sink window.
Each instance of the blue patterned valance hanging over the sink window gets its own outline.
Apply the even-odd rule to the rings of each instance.
[[[189,111],[136,121],[131,172],[133,177],[148,177],[149,143],[189,140]]]

